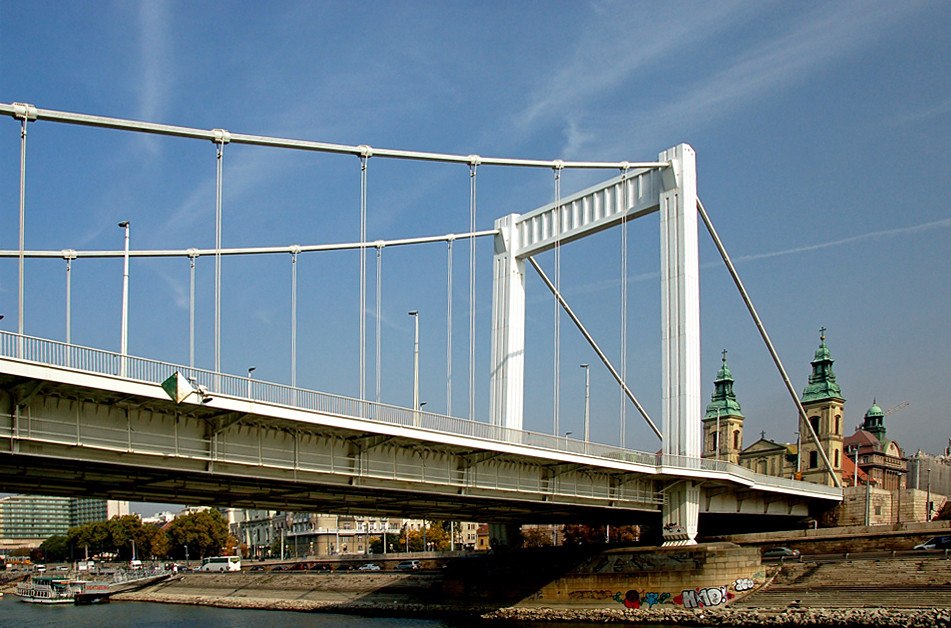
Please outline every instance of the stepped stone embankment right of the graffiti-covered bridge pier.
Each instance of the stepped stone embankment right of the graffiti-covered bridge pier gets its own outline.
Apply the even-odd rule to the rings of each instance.
[[[951,561],[937,557],[788,563],[735,608],[951,608]]]

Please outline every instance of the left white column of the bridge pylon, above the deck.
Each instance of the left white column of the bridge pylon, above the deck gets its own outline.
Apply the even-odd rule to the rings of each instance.
[[[492,275],[492,425],[522,429],[525,377],[525,260],[515,255],[519,214],[495,221]]]

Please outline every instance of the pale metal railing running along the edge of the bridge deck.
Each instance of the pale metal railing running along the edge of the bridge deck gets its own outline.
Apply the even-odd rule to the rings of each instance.
[[[32,336],[21,336],[6,331],[0,331],[0,356],[99,375],[123,377],[150,384],[160,384],[178,371],[188,377],[196,387],[204,388],[207,394],[211,396],[223,395],[248,399],[340,417],[379,421],[390,425],[416,427],[469,438],[526,445],[652,467],[666,466],[686,470],[718,471],[756,482],[762,486],[784,488],[801,488],[804,486],[801,481],[758,474],[724,460],[649,453],[585,442],[564,436],[515,430],[469,419],[421,410],[414,411],[410,408],[363,401],[284,384],[262,382],[238,375],[215,373],[170,362],[122,356],[102,349],[70,345]],[[195,453],[198,453],[200,448],[204,446],[197,443],[194,445]],[[179,442],[176,446],[187,447],[188,445]],[[817,490],[821,492],[818,485],[812,486],[816,486]]]

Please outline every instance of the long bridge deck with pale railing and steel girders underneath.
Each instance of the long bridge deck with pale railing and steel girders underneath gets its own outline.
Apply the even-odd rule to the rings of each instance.
[[[0,357],[3,491],[496,522],[654,520],[680,480],[703,482],[701,513],[806,516],[841,499],[831,487],[722,461],[586,444],[3,332],[0,356],[8,356]],[[113,374],[123,370],[126,377]],[[159,383],[176,370],[210,398],[174,403]]]

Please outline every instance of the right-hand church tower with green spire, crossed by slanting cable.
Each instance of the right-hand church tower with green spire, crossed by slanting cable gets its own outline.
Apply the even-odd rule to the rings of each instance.
[[[816,349],[812,361],[812,375],[809,376],[809,385],[802,395],[802,407],[806,411],[809,423],[819,437],[822,449],[832,463],[835,474],[842,477],[842,415],[845,409],[845,398],[842,390],[835,381],[832,372],[832,353],[826,346],[825,327],[820,330],[819,348]],[[817,484],[833,484],[822,462],[822,457],[816,450],[816,445],[809,436],[809,428],[800,425],[800,465],[802,479]]]

